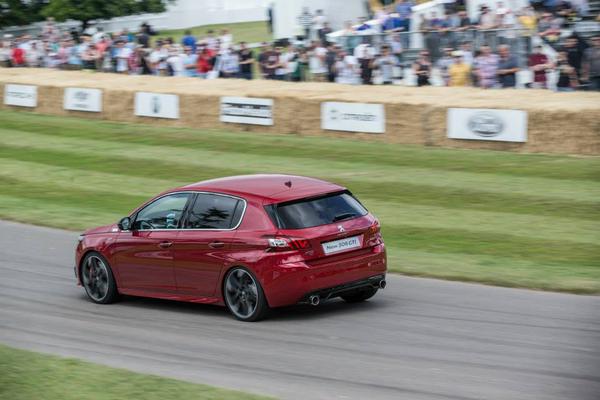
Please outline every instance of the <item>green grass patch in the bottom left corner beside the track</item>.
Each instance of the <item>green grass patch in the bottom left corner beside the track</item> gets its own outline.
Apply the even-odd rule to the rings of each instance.
[[[1,400],[245,400],[242,392],[0,345]]]

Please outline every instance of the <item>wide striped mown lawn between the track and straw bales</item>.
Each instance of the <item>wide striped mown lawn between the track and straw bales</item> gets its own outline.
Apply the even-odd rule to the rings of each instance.
[[[377,215],[394,272],[600,293],[600,158],[199,131],[0,111],[0,217],[82,230],[180,184],[321,177]]]

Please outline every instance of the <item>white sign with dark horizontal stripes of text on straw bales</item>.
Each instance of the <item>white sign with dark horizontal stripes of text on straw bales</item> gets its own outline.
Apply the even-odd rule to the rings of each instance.
[[[273,125],[273,100],[221,97],[221,122]]]

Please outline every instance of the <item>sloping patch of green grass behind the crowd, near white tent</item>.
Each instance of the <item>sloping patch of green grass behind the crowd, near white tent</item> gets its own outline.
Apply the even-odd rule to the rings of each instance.
[[[206,37],[206,32],[213,30],[215,35],[220,35],[221,30],[227,28],[233,35],[234,43],[248,42],[248,43],[259,43],[268,42],[273,40],[273,36],[267,29],[266,21],[257,22],[239,22],[236,24],[216,24],[216,25],[203,25],[189,28],[196,39],[202,39]],[[175,42],[181,42],[181,38],[184,36],[184,32],[187,29],[175,29],[168,31],[160,31],[156,37],[167,38],[172,37]],[[155,38],[156,38],[155,37]]]

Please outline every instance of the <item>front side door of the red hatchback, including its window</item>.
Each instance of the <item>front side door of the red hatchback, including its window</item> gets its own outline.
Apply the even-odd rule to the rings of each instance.
[[[121,232],[114,254],[122,288],[175,292],[173,243],[177,239],[191,193],[159,197],[133,217]]]

